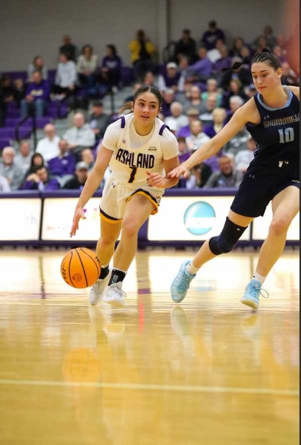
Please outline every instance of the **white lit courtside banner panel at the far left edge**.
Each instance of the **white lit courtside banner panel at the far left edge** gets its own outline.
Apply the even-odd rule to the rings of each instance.
[[[38,241],[40,198],[1,199],[0,241]]]

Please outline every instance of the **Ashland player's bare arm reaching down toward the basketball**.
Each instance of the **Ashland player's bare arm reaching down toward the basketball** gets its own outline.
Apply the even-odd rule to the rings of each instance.
[[[78,230],[78,223],[80,218],[85,219],[83,208],[92,197],[94,191],[99,187],[100,182],[103,179],[104,172],[109,165],[110,159],[112,157],[113,151],[108,150],[103,145],[101,145],[99,152],[97,154],[95,165],[86,180],[84,188],[80,194],[79,200],[76,204],[72,228],[70,231],[70,238],[72,238],[76,231]]]

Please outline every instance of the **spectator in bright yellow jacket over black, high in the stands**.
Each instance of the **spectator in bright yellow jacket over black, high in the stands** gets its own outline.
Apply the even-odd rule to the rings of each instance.
[[[129,44],[128,49],[131,52],[131,63],[136,78],[146,71],[155,71],[156,65],[152,61],[152,55],[156,47],[145,36],[143,30],[137,31],[136,39]]]

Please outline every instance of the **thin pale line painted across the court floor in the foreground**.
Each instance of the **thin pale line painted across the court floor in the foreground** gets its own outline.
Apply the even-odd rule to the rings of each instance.
[[[0,385],[32,385],[32,386],[79,386],[110,389],[138,389],[151,391],[180,392],[228,392],[243,394],[272,394],[298,396],[299,390],[270,388],[235,388],[226,386],[188,386],[188,385],[156,385],[139,383],[101,383],[101,382],[67,382],[42,380],[7,380],[0,379]]]

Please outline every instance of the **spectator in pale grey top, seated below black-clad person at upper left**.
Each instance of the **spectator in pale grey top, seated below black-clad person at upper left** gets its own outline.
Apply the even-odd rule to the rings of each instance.
[[[52,93],[53,95],[59,95],[60,99],[65,99],[74,94],[75,83],[76,65],[69,59],[68,53],[61,53],[55,76],[55,85],[52,85]]]

